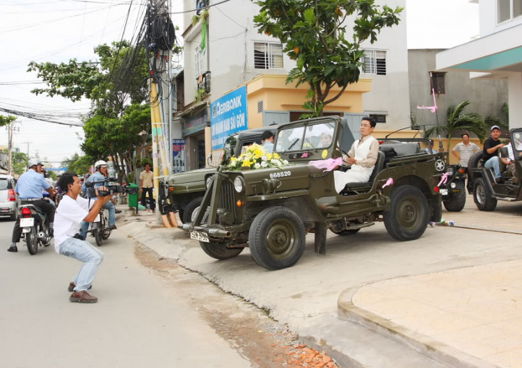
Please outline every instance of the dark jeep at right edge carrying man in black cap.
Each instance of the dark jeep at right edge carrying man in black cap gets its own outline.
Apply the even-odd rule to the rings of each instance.
[[[512,142],[514,165],[518,177],[512,177],[505,170],[505,167],[501,165],[503,179],[501,182],[496,182],[493,170],[483,166],[482,151],[470,157],[469,175],[473,181],[473,200],[481,211],[493,211],[497,207],[498,200],[507,202],[522,200],[522,129],[511,129],[509,136]],[[507,157],[507,147],[503,147],[499,151],[499,154]]]

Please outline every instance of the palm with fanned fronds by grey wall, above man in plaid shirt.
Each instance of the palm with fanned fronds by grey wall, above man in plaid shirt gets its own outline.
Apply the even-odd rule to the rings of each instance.
[[[469,101],[464,101],[457,106],[450,106],[446,113],[447,121],[444,125],[437,125],[428,129],[425,133],[426,138],[433,134],[445,133],[448,136],[448,152],[450,152],[451,137],[455,131],[466,131],[474,133],[482,143],[486,138],[487,126],[478,113],[463,113]]]

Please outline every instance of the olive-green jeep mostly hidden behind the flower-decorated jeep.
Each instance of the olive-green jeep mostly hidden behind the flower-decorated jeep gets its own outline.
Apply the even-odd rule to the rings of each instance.
[[[251,143],[260,143],[264,131],[271,131],[276,134],[277,126],[264,127],[260,129],[250,129],[239,131],[227,138],[223,148],[222,164],[228,163],[230,157],[237,157],[241,153],[242,147]],[[198,208],[203,200],[203,195],[207,189],[205,186],[205,175],[214,173],[216,168],[202,168],[191,170],[185,173],[177,173],[168,177],[166,182],[161,182],[159,206],[161,212],[162,205],[166,205],[166,198],[173,211],[180,214],[182,223],[191,221],[194,209]]]

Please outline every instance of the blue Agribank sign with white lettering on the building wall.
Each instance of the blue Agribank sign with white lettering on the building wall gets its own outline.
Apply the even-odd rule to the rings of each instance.
[[[210,104],[210,130],[212,150],[220,150],[226,138],[236,131],[245,130],[246,86],[232,90]]]

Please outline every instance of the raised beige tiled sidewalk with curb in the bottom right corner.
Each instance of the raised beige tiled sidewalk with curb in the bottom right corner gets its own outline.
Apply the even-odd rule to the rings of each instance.
[[[440,362],[522,367],[522,260],[376,282],[338,304],[340,317]]]

